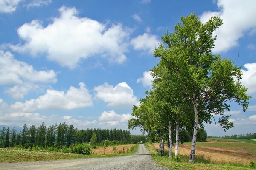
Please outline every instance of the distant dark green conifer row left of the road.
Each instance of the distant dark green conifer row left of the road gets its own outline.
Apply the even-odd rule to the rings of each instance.
[[[0,130],[0,147],[70,147],[73,144],[85,143],[91,145],[102,145],[109,140],[111,144],[136,143],[146,141],[145,136],[131,135],[129,130],[121,129],[82,129],[73,125],[60,123],[47,127],[43,122],[39,127],[23,125],[22,130],[17,132],[3,127]]]

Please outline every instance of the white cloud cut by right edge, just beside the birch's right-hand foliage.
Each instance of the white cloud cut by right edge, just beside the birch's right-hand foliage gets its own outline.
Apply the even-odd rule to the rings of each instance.
[[[254,96],[256,92],[256,63],[247,63],[244,67],[247,68],[247,71],[242,70],[243,79],[241,82],[248,88],[248,93]]]

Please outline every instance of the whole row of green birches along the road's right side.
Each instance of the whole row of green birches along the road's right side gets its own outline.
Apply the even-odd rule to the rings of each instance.
[[[150,139],[159,141],[159,154],[163,155],[168,141],[169,156],[175,143],[175,156],[179,142],[186,133],[192,134],[189,162],[195,161],[196,142],[204,123],[214,122],[224,131],[233,127],[230,103],[248,107],[250,96],[241,84],[241,67],[232,60],[212,54],[217,36],[213,32],[222,25],[218,16],[202,23],[196,14],[181,17],[174,32],[167,31],[162,43],[154,49],[159,62],[150,71],[154,78],[152,88],[139,106],[133,106],[128,127],[140,127]]]

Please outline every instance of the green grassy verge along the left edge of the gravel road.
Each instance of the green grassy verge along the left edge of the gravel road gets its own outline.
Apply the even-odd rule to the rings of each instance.
[[[115,154],[90,154],[79,155],[73,153],[62,153],[46,150],[29,150],[19,148],[0,148],[0,163],[9,162],[23,162],[23,161],[52,161],[58,159],[75,159],[75,158],[93,158],[93,157],[111,157],[111,156],[124,156],[134,154],[138,149],[138,145],[134,150],[128,153],[115,153]]]

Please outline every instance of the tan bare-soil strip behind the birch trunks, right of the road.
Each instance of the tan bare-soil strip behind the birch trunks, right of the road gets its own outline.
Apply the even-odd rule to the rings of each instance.
[[[156,149],[159,149],[159,144],[154,144]],[[166,147],[165,149],[169,150]],[[206,146],[198,146],[196,148],[196,155],[203,155],[206,159],[210,159],[211,161],[218,163],[238,163],[238,164],[249,164],[250,160],[256,161],[256,154],[249,153],[243,150],[239,150],[239,148],[225,149],[223,147],[206,147]],[[190,155],[191,146],[182,145],[179,146],[179,153],[182,155]],[[175,152],[175,147],[172,148],[172,151]]]

